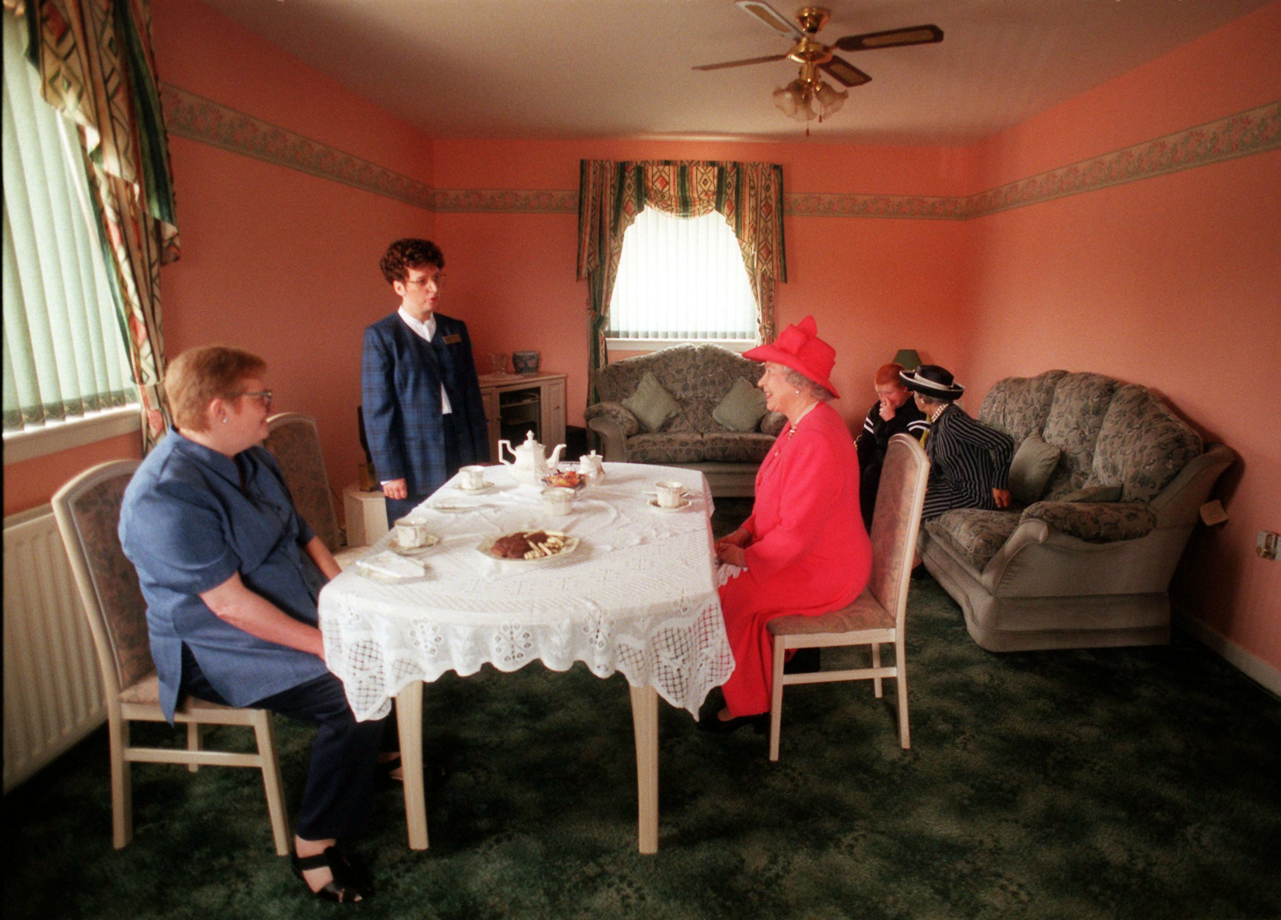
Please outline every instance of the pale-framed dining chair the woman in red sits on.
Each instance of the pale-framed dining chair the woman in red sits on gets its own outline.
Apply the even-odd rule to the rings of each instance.
[[[876,698],[881,680],[898,684],[899,743],[911,747],[907,728],[907,662],[903,655],[903,620],[912,557],[921,529],[921,506],[930,461],[920,442],[907,434],[889,439],[872,513],[872,571],[867,587],[853,604],[819,616],[778,616],[769,621],[774,638],[774,680],[770,700],[770,760],[779,759],[783,725],[783,688],[788,684],[871,680]],[[893,666],[881,666],[881,643],[894,643]],[[783,661],[790,648],[871,646],[871,668],[784,674]]]

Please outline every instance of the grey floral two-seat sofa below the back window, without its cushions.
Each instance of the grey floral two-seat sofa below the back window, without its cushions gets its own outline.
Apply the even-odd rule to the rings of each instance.
[[[702,470],[715,496],[751,496],[756,470],[783,431],[785,416],[766,413],[756,431],[733,432],[712,418],[735,379],[756,383],[762,365],[716,345],[676,345],[628,357],[596,372],[600,402],[588,406],[587,425],[601,436],[605,459]],[[647,373],[680,405],[660,431],[644,432],[623,401]]]

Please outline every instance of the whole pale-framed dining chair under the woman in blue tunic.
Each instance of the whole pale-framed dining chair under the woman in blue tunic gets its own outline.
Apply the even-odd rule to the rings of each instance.
[[[138,468],[137,460],[113,460],[85,470],[53,497],[54,516],[67,547],[76,587],[88,619],[102,677],[111,760],[111,843],[117,850],[133,838],[131,764],[252,766],[263,771],[266,809],[275,852],[288,856],[292,841],[281,783],[272,714],[184,697],[174,721],[187,725],[187,748],[135,747],[131,721],[164,721],[160,684],[147,638],[147,605],[138,574],[120,548],[120,502]],[[257,741],[255,753],[206,751],[204,725],[247,725]]]

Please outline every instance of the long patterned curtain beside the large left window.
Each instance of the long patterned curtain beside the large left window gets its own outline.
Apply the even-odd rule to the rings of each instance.
[[[79,127],[149,450],[169,423],[160,265],[178,258],[151,9],[147,0],[26,0],[26,8],[41,95]]]

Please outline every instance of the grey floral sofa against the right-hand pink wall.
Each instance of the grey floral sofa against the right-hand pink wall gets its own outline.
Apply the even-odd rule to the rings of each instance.
[[[984,648],[1170,641],[1170,579],[1218,475],[1236,459],[1204,445],[1145,387],[1049,370],[999,381],[979,419],[1062,452],[1041,498],[954,510],[921,532],[925,566]],[[1116,501],[1082,491],[1120,487]]]

